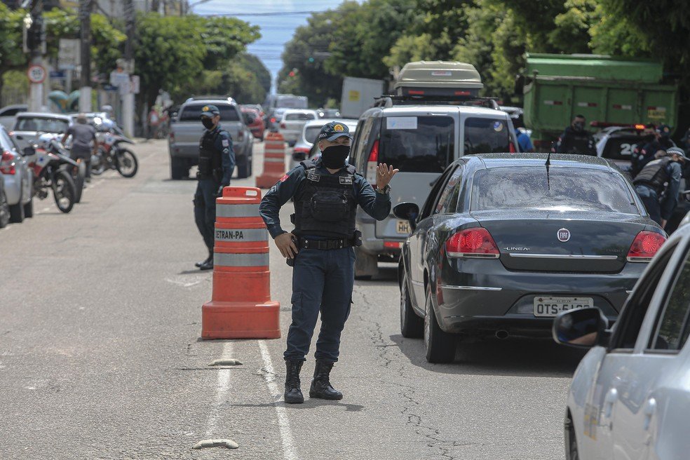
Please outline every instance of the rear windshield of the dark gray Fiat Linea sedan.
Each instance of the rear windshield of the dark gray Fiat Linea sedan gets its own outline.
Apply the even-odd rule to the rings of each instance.
[[[602,210],[639,214],[630,188],[617,172],[554,167],[479,170],[472,182],[471,210]]]

